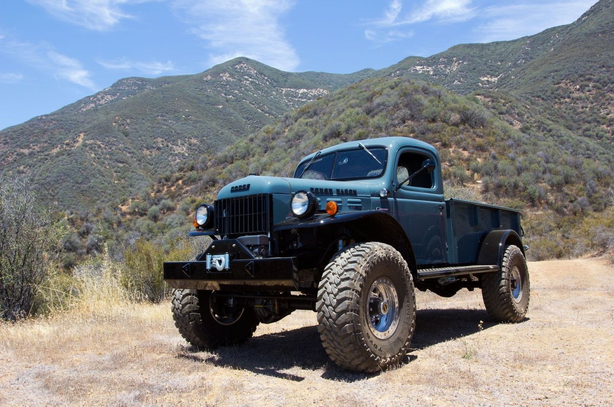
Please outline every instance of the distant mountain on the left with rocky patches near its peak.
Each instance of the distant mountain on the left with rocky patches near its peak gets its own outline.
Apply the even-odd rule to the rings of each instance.
[[[59,207],[118,200],[369,72],[297,74],[237,58],[198,75],[122,79],[0,132],[0,166],[37,173],[42,197]]]

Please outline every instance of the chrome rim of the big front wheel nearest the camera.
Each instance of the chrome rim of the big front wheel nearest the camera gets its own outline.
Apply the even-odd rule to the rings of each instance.
[[[366,306],[371,333],[379,339],[390,337],[397,329],[400,310],[397,289],[389,278],[373,281]]]

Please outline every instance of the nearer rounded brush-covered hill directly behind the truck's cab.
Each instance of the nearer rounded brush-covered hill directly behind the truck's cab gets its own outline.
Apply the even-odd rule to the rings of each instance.
[[[514,116],[519,126],[508,123],[499,108],[519,112]],[[513,98],[493,105],[408,78],[364,80],[286,113],[221,154],[185,161],[178,173],[158,180],[145,206],[171,200],[176,214],[188,216],[198,203],[212,202],[224,184],[248,173],[289,176],[313,151],[400,135],[437,146],[449,194],[460,191],[526,210],[533,259],[583,254],[590,243],[579,247],[575,230],[589,213],[599,216],[610,204],[614,150],[572,132],[559,139],[524,132],[523,109]],[[173,231],[165,222],[157,224],[166,224],[161,234]],[[134,225],[142,234],[153,227],[145,218]],[[183,227],[188,226],[186,219]]]

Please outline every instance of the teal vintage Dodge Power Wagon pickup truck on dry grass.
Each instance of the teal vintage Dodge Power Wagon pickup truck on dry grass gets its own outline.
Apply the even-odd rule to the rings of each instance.
[[[529,306],[520,211],[445,200],[437,150],[407,137],[317,151],[292,178],[249,175],[200,205],[194,226],[211,245],[165,262],[164,278],[179,332],[201,348],[313,310],[328,356],[373,372],[410,347],[414,287],[480,288],[502,322],[523,321]]]

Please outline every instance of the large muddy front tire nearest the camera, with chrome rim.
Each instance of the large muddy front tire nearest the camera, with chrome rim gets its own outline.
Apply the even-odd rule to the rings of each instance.
[[[416,324],[414,284],[392,246],[349,246],[324,270],[317,293],[318,332],[330,359],[374,372],[400,363]]]

